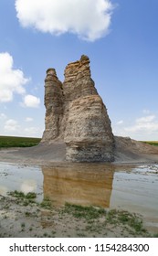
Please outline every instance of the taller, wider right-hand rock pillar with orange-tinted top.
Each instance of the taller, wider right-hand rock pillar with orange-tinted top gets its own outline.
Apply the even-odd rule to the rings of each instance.
[[[63,89],[69,101],[64,141],[66,159],[74,162],[113,161],[111,121],[90,75],[90,59],[68,64]]]

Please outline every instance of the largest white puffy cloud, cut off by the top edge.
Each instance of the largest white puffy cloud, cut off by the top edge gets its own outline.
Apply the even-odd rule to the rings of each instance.
[[[16,13],[23,27],[54,35],[73,33],[94,41],[109,32],[111,0],[16,0]]]

